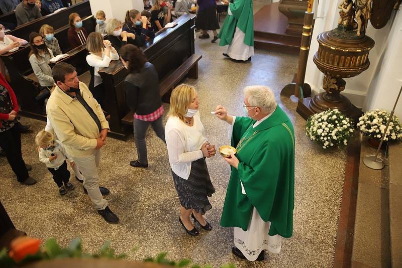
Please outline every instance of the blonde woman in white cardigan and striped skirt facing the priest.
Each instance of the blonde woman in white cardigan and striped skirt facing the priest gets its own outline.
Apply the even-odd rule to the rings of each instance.
[[[190,235],[198,235],[190,215],[203,229],[212,226],[204,214],[212,208],[208,197],[215,193],[205,158],[216,154],[200,120],[199,99],[195,88],[182,84],[170,96],[170,110],[165,126],[169,163],[180,200],[179,222]]]

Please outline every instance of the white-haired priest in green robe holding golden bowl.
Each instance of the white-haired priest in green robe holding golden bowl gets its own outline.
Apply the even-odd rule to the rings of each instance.
[[[229,115],[218,105],[215,114],[232,126],[236,155],[221,225],[234,227],[232,252],[263,260],[264,249],[279,253],[282,237],[293,232],[294,131],[289,117],[265,86],[244,89],[246,117]]]

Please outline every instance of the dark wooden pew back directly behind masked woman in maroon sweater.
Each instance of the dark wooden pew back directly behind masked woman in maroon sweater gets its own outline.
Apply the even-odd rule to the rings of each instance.
[[[32,32],[38,32],[41,26],[44,24],[52,26],[55,30],[67,25],[68,16],[74,12],[78,13],[81,18],[90,16],[92,13],[91,7],[89,5],[89,0],[84,0],[81,3],[68,7],[67,9],[56,14],[52,13],[42,18],[33,20],[32,22],[20,25],[7,34],[28,40],[29,34]]]

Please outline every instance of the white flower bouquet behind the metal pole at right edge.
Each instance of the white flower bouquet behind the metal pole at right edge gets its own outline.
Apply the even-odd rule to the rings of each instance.
[[[380,140],[384,134],[390,113],[375,109],[367,111],[360,118],[357,127],[365,136]],[[402,124],[396,115],[392,116],[384,141],[402,141]]]

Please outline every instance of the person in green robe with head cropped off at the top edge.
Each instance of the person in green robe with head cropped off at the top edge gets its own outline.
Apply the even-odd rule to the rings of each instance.
[[[234,60],[250,61],[254,55],[254,26],[252,0],[234,0],[218,34],[220,46],[229,45],[224,56]]]

